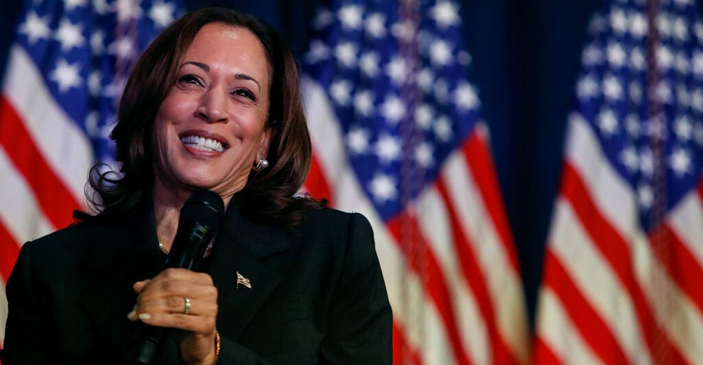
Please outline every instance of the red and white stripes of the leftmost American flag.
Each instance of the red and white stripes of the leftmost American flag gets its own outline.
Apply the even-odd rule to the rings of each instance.
[[[27,53],[11,48],[0,97],[0,345],[4,284],[20,246],[72,223],[91,164],[89,140],[53,100]]]

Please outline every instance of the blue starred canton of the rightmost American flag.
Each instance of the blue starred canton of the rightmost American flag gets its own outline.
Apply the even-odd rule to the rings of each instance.
[[[652,227],[655,168],[661,162],[665,211],[692,190],[703,167],[703,24],[695,0],[661,1],[659,44],[650,48],[659,74],[647,78],[645,1],[613,1],[591,23],[582,55],[577,111],[591,124],[607,159],[636,192],[640,222]],[[652,118],[652,100],[660,106]],[[662,145],[657,159],[653,143]],[[665,196],[664,196],[665,195]],[[655,223],[655,222],[654,222]]]

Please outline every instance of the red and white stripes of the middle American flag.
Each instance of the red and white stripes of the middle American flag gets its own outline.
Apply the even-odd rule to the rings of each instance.
[[[307,191],[373,225],[394,311],[394,362],[527,363],[522,281],[484,124],[413,206],[383,222],[348,164],[324,91],[305,79],[303,92],[314,146]]]

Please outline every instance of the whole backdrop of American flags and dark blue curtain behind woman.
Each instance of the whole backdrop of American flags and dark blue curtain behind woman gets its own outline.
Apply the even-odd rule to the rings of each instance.
[[[231,6],[301,63],[304,188],[374,225],[396,364],[701,363],[699,4],[525,3],[0,4],[0,284],[112,163],[115,98],[148,41],[184,9]]]

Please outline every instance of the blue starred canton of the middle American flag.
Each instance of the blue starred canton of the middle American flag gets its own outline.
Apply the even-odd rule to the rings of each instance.
[[[334,3],[316,15],[304,71],[327,91],[349,161],[388,220],[437,178],[479,119],[459,8],[447,0]]]

